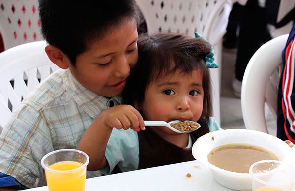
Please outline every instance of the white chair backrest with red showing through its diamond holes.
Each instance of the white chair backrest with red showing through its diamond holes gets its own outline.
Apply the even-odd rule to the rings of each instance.
[[[0,32],[4,50],[42,40],[38,0],[0,0]]]

